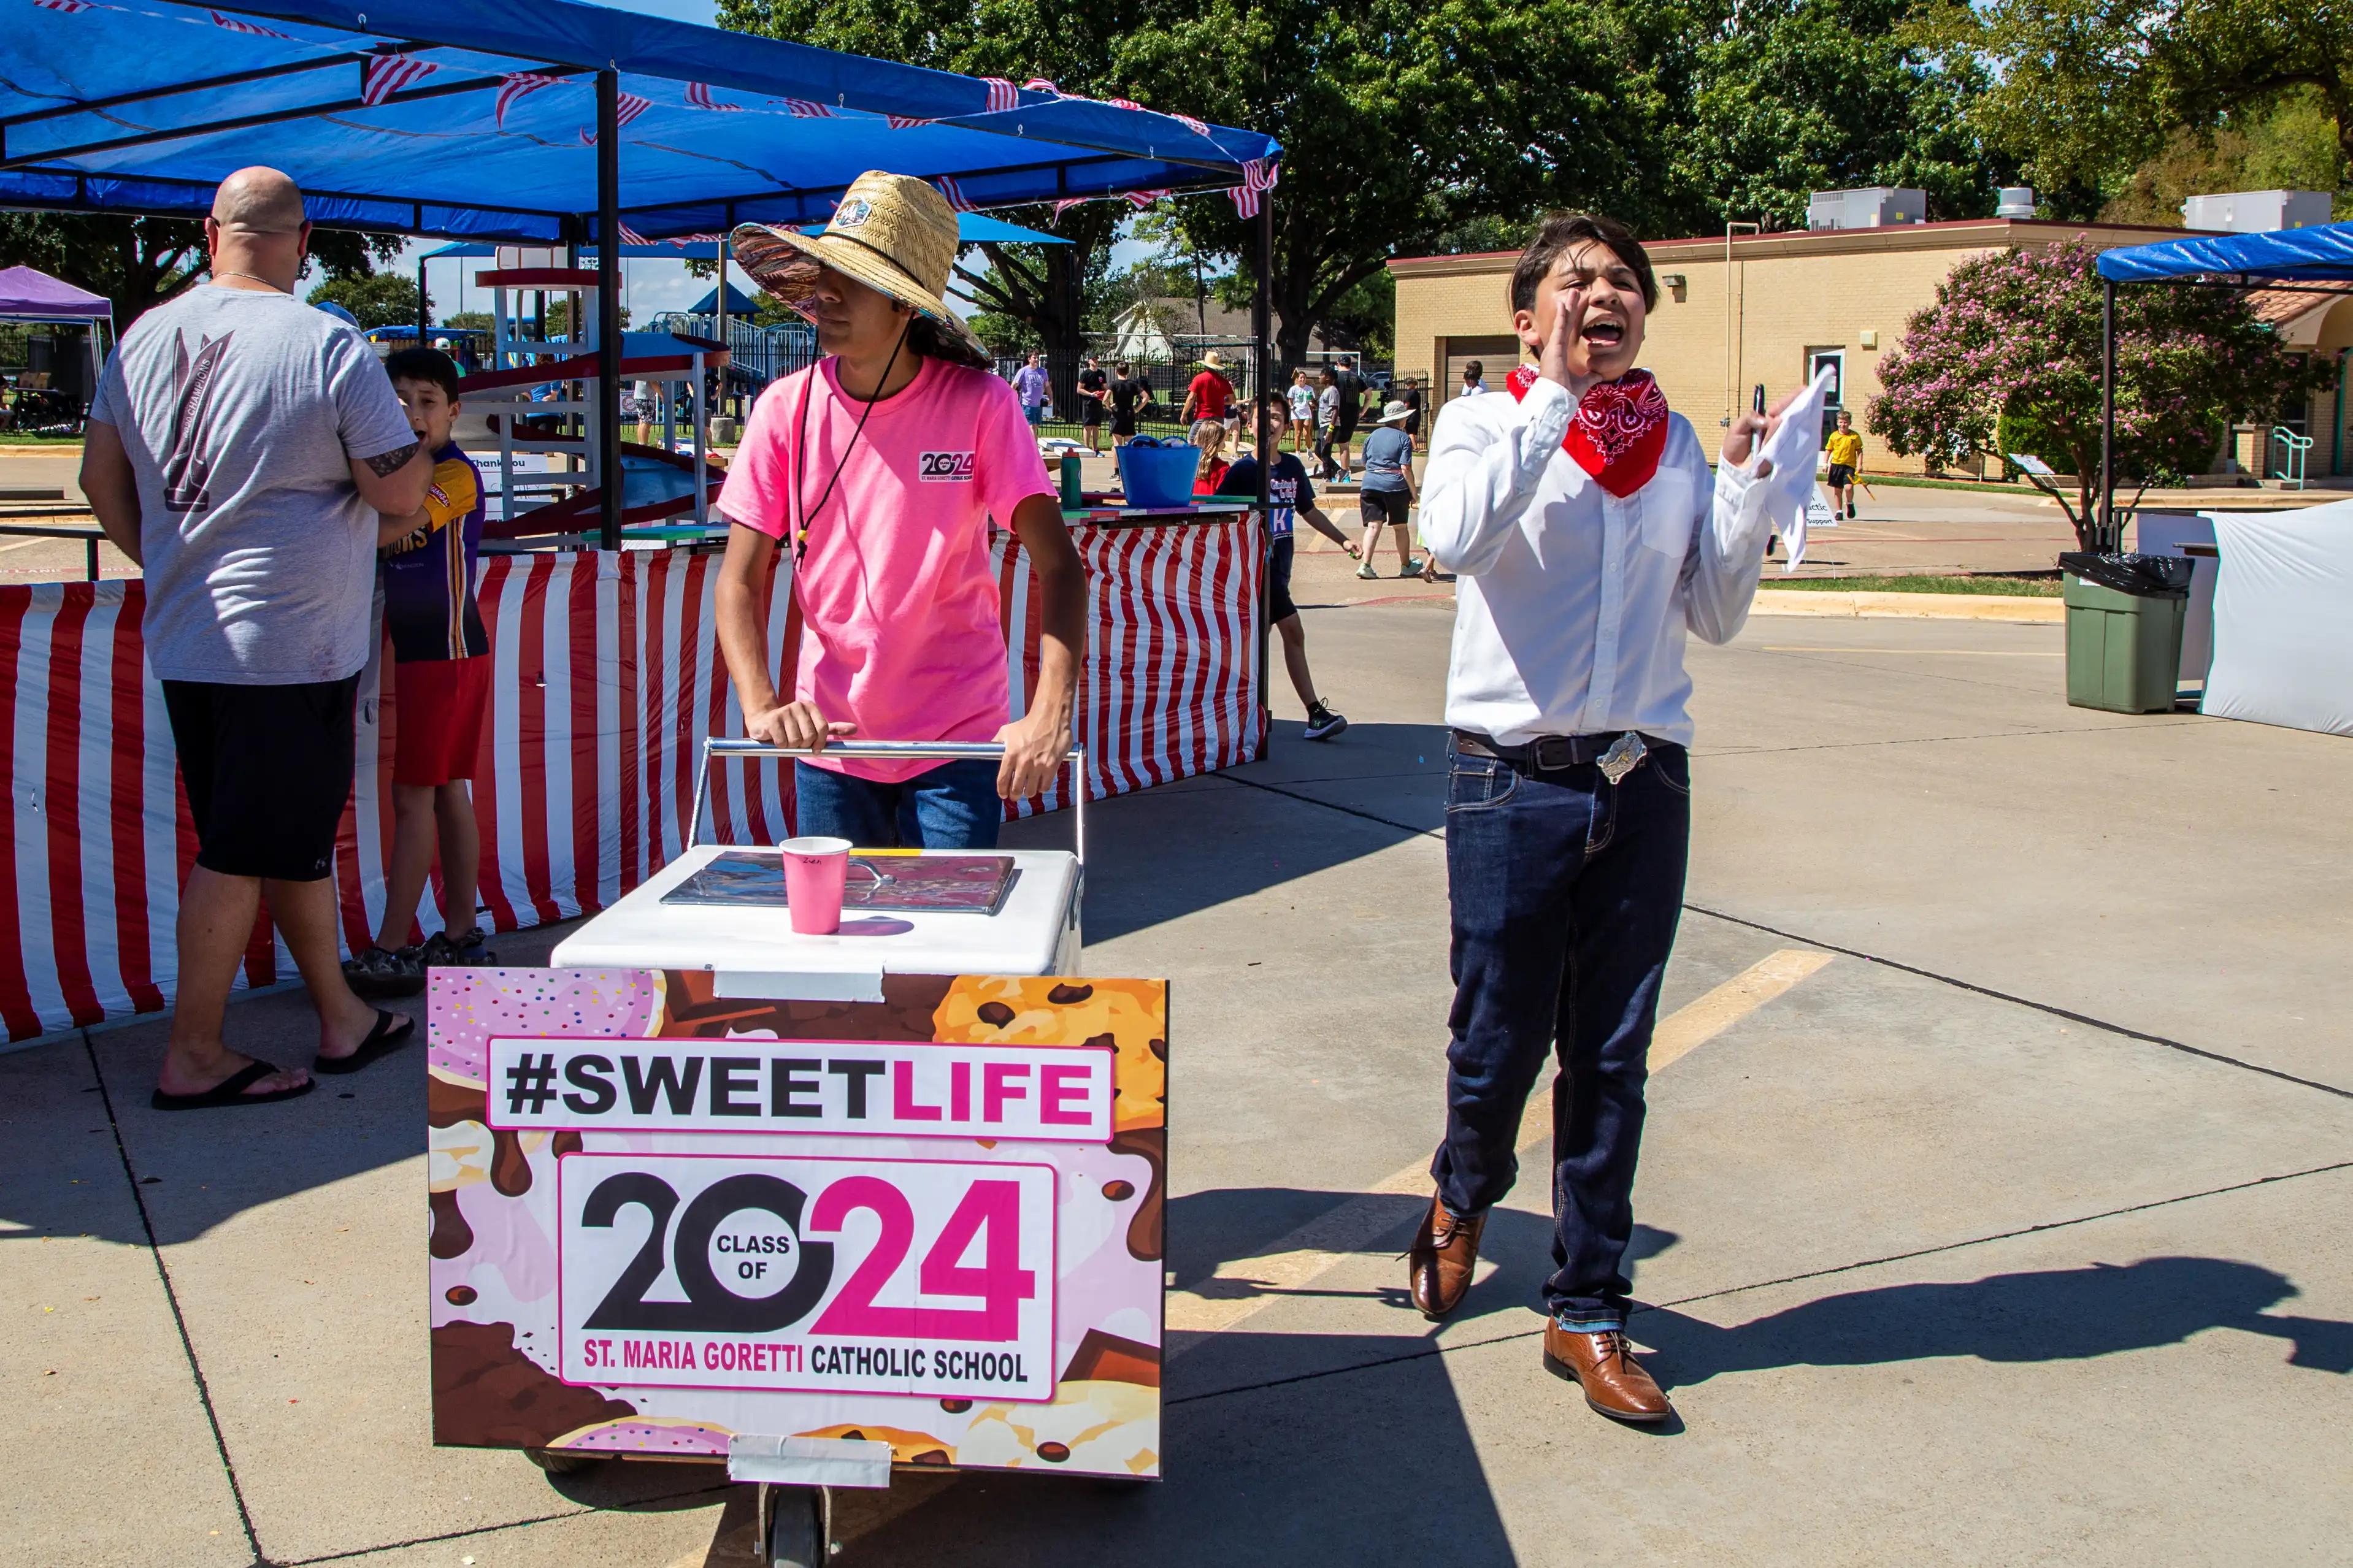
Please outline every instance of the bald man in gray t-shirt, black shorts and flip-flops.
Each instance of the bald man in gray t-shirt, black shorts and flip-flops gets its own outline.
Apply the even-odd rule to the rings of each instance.
[[[198,839],[158,1110],[313,1086],[221,1041],[264,893],[318,1004],[320,1072],[414,1027],[344,985],[327,875],[376,543],[424,505],[433,461],[367,341],[294,299],[308,235],[278,169],[221,181],[212,282],[141,315],[89,404],[82,494],[146,576],[146,651]]]

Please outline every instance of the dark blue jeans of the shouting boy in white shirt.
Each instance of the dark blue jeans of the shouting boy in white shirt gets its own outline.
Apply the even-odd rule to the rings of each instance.
[[[1680,745],[1654,743],[1617,785],[1591,762],[1452,757],[1454,1044],[1431,1175],[1454,1215],[1501,1201],[1518,1175],[1520,1112],[1544,1060],[1560,1058],[1544,1309],[1577,1331],[1626,1324],[1642,1081],[1689,837]]]

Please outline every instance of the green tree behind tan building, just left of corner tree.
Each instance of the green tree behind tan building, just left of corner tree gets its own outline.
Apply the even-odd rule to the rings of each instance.
[[[1805,228],[1812,190],[1911,186],[1932,219],[1993,212],[1969,129],[1986,73],[1899,31],[1908,0],[1751,0],[1697,49],[1678,174],[1725,219]],[[2007,169],[2005,169],[2007,172]]]

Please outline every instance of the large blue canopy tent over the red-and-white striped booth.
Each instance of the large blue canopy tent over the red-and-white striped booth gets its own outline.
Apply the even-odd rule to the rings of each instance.
[[[245,165],[311,219],[588,247],[821,223],[864,169],[958,209],[1238,190],[1280,146],[1047,82],[962,78],[569,0],[0,0],[0,207],[198,216]],[[598,254],[619,320],[619,247]],[[1257,329],[1268,336],[1266,299]],[[602,378],[619,383],[621,334]],[[605,473],[619,473],[619,428]],[[605,543],[619,541],[607,487]]]

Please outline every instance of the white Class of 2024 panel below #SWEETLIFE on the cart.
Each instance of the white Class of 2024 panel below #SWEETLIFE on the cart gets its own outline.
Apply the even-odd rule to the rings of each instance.
[[[1052,1166],[569,1154],[555,1173],[565,1382],[1054,1396]]]

